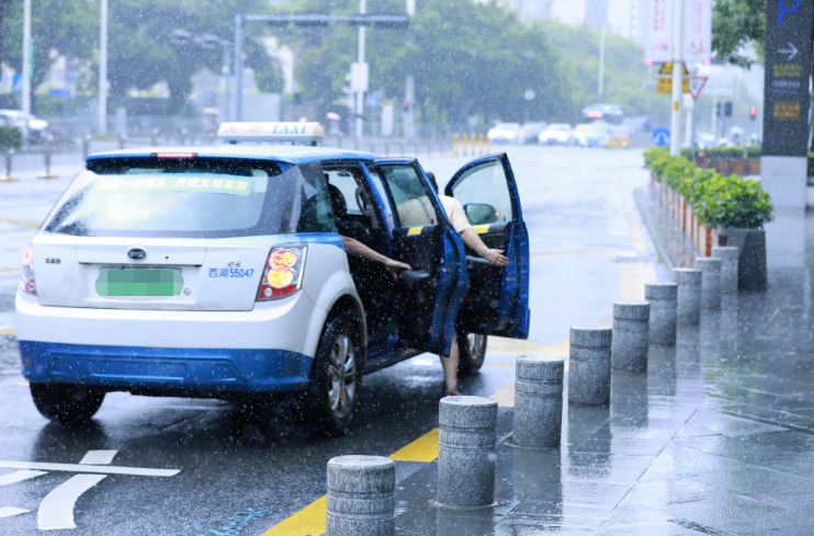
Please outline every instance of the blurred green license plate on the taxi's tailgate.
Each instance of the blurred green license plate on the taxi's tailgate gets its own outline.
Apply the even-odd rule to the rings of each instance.
[[[183,288],[180,270],[105,270],[97,278],[100,296],[178,296]]]

